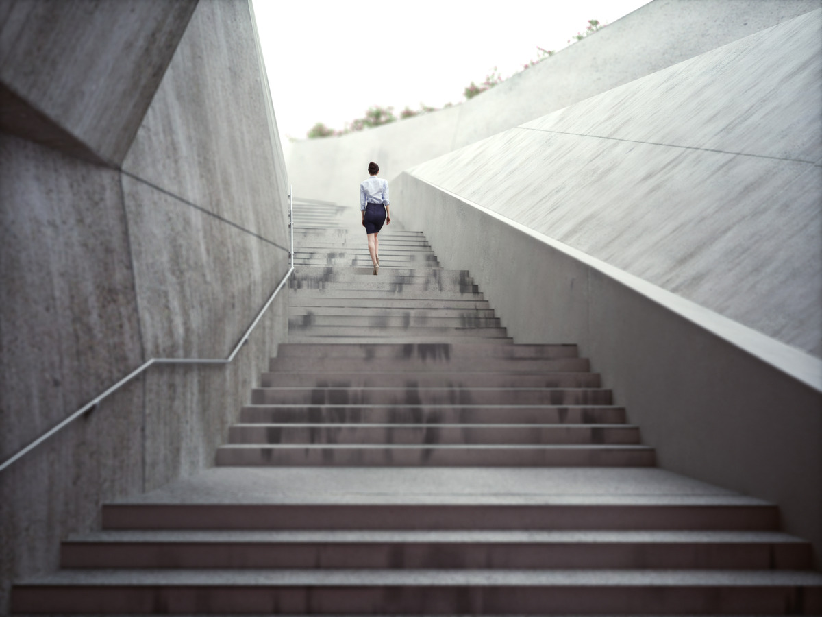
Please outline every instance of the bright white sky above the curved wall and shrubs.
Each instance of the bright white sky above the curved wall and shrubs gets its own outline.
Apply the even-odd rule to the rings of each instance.
[[[372,105],[395,115],[464,101],[471,81],[502,77],[558,50],[589,19],[617,21],[649,0],[254,0],[280,137],[317,122],[344,128]],[[584,79],[580,76],[580,79]]]

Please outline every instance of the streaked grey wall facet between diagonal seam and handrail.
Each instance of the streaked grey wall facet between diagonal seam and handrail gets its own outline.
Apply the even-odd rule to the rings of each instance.
[[[122,188],[145,356],[227,355],[288,270],[287,253],[129,176]]]

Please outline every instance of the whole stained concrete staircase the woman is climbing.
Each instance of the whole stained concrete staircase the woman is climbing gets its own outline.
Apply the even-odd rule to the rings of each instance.
[[[298,213],[290,342],[217,466],[105,504],[13,610],[822,613],[778,509],[656,468],[574,345],[513,344],[423,234],[373,276],[356,211]]]

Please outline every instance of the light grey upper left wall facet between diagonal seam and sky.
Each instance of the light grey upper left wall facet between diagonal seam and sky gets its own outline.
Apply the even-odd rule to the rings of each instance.
[[[289,250],[288,210],[281,207],[289,185],[266,130],[267,93],[249,12],[246,2],[202,2],[122,169],[282,252]]]

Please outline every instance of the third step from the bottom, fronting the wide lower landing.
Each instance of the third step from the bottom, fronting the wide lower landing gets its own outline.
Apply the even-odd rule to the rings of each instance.
[[[215,468],[214,471],[229,470]],[[406,470],[396,470],[395,473],[400,471]],[[443,470],[437,474],[455,471],[464,471],[472,477],[477,475],[474,470]],[[602,473],[600,470],[580,470],[580,474],[584,476],[584,472],[591,471]],[[644,470],[606,471],[636,476],[637,471]],[[572,475],[566,471],[562,473]],[[518,498],[516,494],[473,493],[469,503],[455,494],[444,495],[433,503],[420,503],[427,495],[404,493],[400,495],[402,500],[397,502],[396,497],[388,493],[369,499],[365,492],[349,496],[329,490],[323,494],[309,491],[298,502],[264,503],[265,499],[277,496],[277,483],[274,482],[259,496],[251,495],[261,503],[242,503],[243,496],[238,494],[233,494],[229,503],[220,503],[219,493],[209,498],[208,503],[184,503],[179,499],[173,503],[104,503],[102,529],[778,531],[778,508],[772,503],[733,495],[629,494],[628,485],[617,483],[617,486],[623,490],[607,495],[582,493],[577,496],[570,492],[549,495],[539,501],[527,499],[525,495]],[[568,489],[572,487],[573,482],[570,482]],[[311,501],[306,503],[306,497]]]

